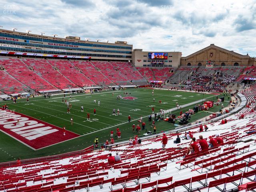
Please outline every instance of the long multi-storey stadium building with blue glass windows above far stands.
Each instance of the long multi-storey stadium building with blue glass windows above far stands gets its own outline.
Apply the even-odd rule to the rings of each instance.
[[[0,30],[0,54],[118,61],[132,58],[132,45],[127,42],[92,42],[55,36]]]

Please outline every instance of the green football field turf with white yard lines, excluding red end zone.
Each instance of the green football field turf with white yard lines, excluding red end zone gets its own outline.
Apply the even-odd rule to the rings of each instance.
[[[25,99],[17,100],[16,104],[11,101],[1,102],[1,104],[7,103],[10,110],[15,110],[59,127],[66,126],[67,130],[81,136],[40,150],[32,150],[18,140],[0,132],[0,162],[81,150],[94,144],[95,137],[99,138],[99,143],[104,143],[107,139],[110,140],[110,131],[113,130],[115,133],[117,127],[122,132],[122,140],[128,140],[128,138],[134,136],[132,124],[138,124],[138,119],[141,116],[143,121],[146,122],[147,130],[150,130],[152,122],[148,122],[148,115],[152,113],[152,106],[154,106],[155,112],[159,112],[160,109],[175,108],[176,102],[179,105],[190,104],[195,101],[202,103],[203,98],[202,93],[184,91],[154,90],[154,96],[152,96],[152,89],[128,89],[125,91],[131,93],[128,96],[136,99],[117,100],[118,94],[122,94],[122,97],[124,97],[124,90],[95,94],[72,94],[71,98],[66,95],[66,100],[72,103],[70,114],[67,114],[66,104],[62,103],[62,95],[51,98],[30,98],[29,103]],[[155,98],[155,102],[153,102],[153,98]],[[204,94],[204,99],[216,101],[216,95]],[[94,100],[97,102],[94,103]],[[98,100],[100,100],[100,106],[98,106]],[[159,103],[159,100],[162,101],[162,104]],[[228,97],[226,96],[225,101],[227,100]],[[228,102],[224,102],[224,106],[228,106],[228,104]],[[84,112],[81,112],[81,106],[84,106]],[[182,111],[185,112],[193,106],[183,107]],[[96,116],[93,115],[94,108],[96,109]],[[116,112],[117,109],[120,110],[119,116],[112,115],[113,108],[116,109]],[[220,110],[220,106],[214,106],[209,112],[217,112],[218,110]],[[176,116],[179,115],[179,112],[180,110],[172,111]],[[194,114],[190,122],[210,115],[209,112],[202,111]],[[90,120],[87,120],[87,113],[90,113]],[[128,122],[128,115],[131,116],[131,122]],[[70,123],[71,117],[74,119],[73,125]],[[156,122],[157,132],[175,127],[168,122]],[[141,132],[139,136],[144,133],[145,131]],[[115,138],[115,142],[117,142],[117,138]]]

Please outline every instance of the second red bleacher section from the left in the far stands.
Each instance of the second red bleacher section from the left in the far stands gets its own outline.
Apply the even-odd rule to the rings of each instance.
[[[56,90],[52,84],[38,76],[33,70],[30,70],[20,59],[0,58],[0,64],[4,66],[8,74],[35,91]]]

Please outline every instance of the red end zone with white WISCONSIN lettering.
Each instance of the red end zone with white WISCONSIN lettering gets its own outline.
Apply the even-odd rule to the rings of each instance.
[[[17,120],[19,119],[19,124]],[[37,150],[79,135],[41,120],[17,112],[0,109],[0,130],[12,138]]]

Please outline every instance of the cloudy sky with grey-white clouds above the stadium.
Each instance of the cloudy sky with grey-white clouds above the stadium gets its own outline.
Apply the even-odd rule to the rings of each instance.
[[[1,0],[0,26],[128,41],[186,56],[214,43],[256,56],[256,0]],[[1,10],[2,9],[2,10]]]

